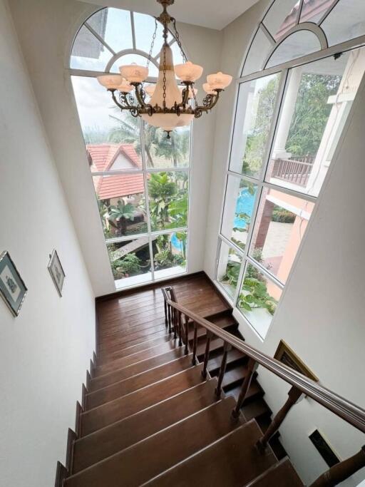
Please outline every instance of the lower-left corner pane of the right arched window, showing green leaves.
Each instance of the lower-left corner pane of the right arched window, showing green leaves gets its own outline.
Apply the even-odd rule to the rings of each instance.
[[[240,275],[242,257],[225,242],[220,242],[220,259],[218,262],[217,280],[230,297],[235,296]]]

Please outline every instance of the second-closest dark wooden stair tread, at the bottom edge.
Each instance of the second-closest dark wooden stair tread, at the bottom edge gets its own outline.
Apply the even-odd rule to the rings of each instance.
[[[276,462],[270,448],[261,454],[255,447],[261,435],[262,431],[252,420],[144,485],[245,486]]]

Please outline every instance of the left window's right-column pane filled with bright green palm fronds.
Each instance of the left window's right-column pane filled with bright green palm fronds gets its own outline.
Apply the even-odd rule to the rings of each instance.
[[[185,172],[148,175],[152,231],[187,226],[188,188],[189,178]]]

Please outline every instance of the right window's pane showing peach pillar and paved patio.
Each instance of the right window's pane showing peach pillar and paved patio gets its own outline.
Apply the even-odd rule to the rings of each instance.
[[[252,233],[250,256],[286,282],[314,203],[264,189]]]

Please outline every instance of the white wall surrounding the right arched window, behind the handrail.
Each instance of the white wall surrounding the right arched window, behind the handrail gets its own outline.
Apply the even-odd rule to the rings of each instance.
[[[259,2],[224,30],[222,68],[238,75],[245,48],[262,17],[267,0]],[[217,233],[230,148],[235,88],[230,103],[218,108],[215,159],[210,192],[205,270],[214,278]],[[359,89],[349,128],[332,161],[327,182],[304,236],[301,250],[289,277],[282,301],[262,342],[236,312],[240,330],[249,344],[273,356],[284,339],[314,371],[321,384],[365,406],[365,84]],[[274,412],[287,399],[289,386],[259,368],[265,399]],[[289,413],[282,426],[282,441],[303,480],[309,484],[327,469],[309,442],[318,428],[341,458],[356,453],[364,434],[345,424],[310,399]],[[356,486],[364,469],[341,485]]]

